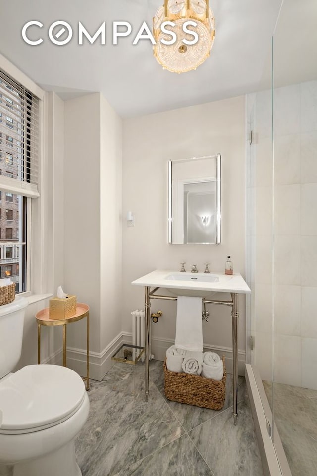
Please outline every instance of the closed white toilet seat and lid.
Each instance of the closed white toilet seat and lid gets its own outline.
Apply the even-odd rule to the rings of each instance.
[[[73,370],[56,365],[23,367],[0,381],[0,434],[55,426],[74,415],[85,397],[84,382]]]

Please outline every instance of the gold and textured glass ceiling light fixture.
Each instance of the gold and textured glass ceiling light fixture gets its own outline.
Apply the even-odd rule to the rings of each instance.
[[[173,22],[174,26],[164,26],[164,22]],[[188,22],[194,22],[196,26]],[[176,36],[172,38],[166,29]],[[196,32],[196,35],[188,31]],[[153,18],[153,35],[156,41],[154,56],[163,69],[174,73],[196,69],[210,55],[215,37],[209,0],[164,0]]]

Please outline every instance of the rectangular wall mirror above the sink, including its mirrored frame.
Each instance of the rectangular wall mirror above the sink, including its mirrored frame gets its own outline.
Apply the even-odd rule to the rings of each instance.
[[[169,160],[168,241],[220,243],[221,155]]]

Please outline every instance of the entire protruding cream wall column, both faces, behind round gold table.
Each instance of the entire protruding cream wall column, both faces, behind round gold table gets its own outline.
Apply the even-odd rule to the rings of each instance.
[[[96,379],[108,370],[107,352],[121,330],[121,129],[100,93],[65,103],[64,284],[65,292],[90,306]],[[68,365],[82,372],[86,319],[71,326],[67,338]]]

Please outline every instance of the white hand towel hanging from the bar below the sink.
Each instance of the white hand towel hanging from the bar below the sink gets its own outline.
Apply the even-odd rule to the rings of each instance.
[[[175,346],[203,352],[202,298],[178,296]]]

